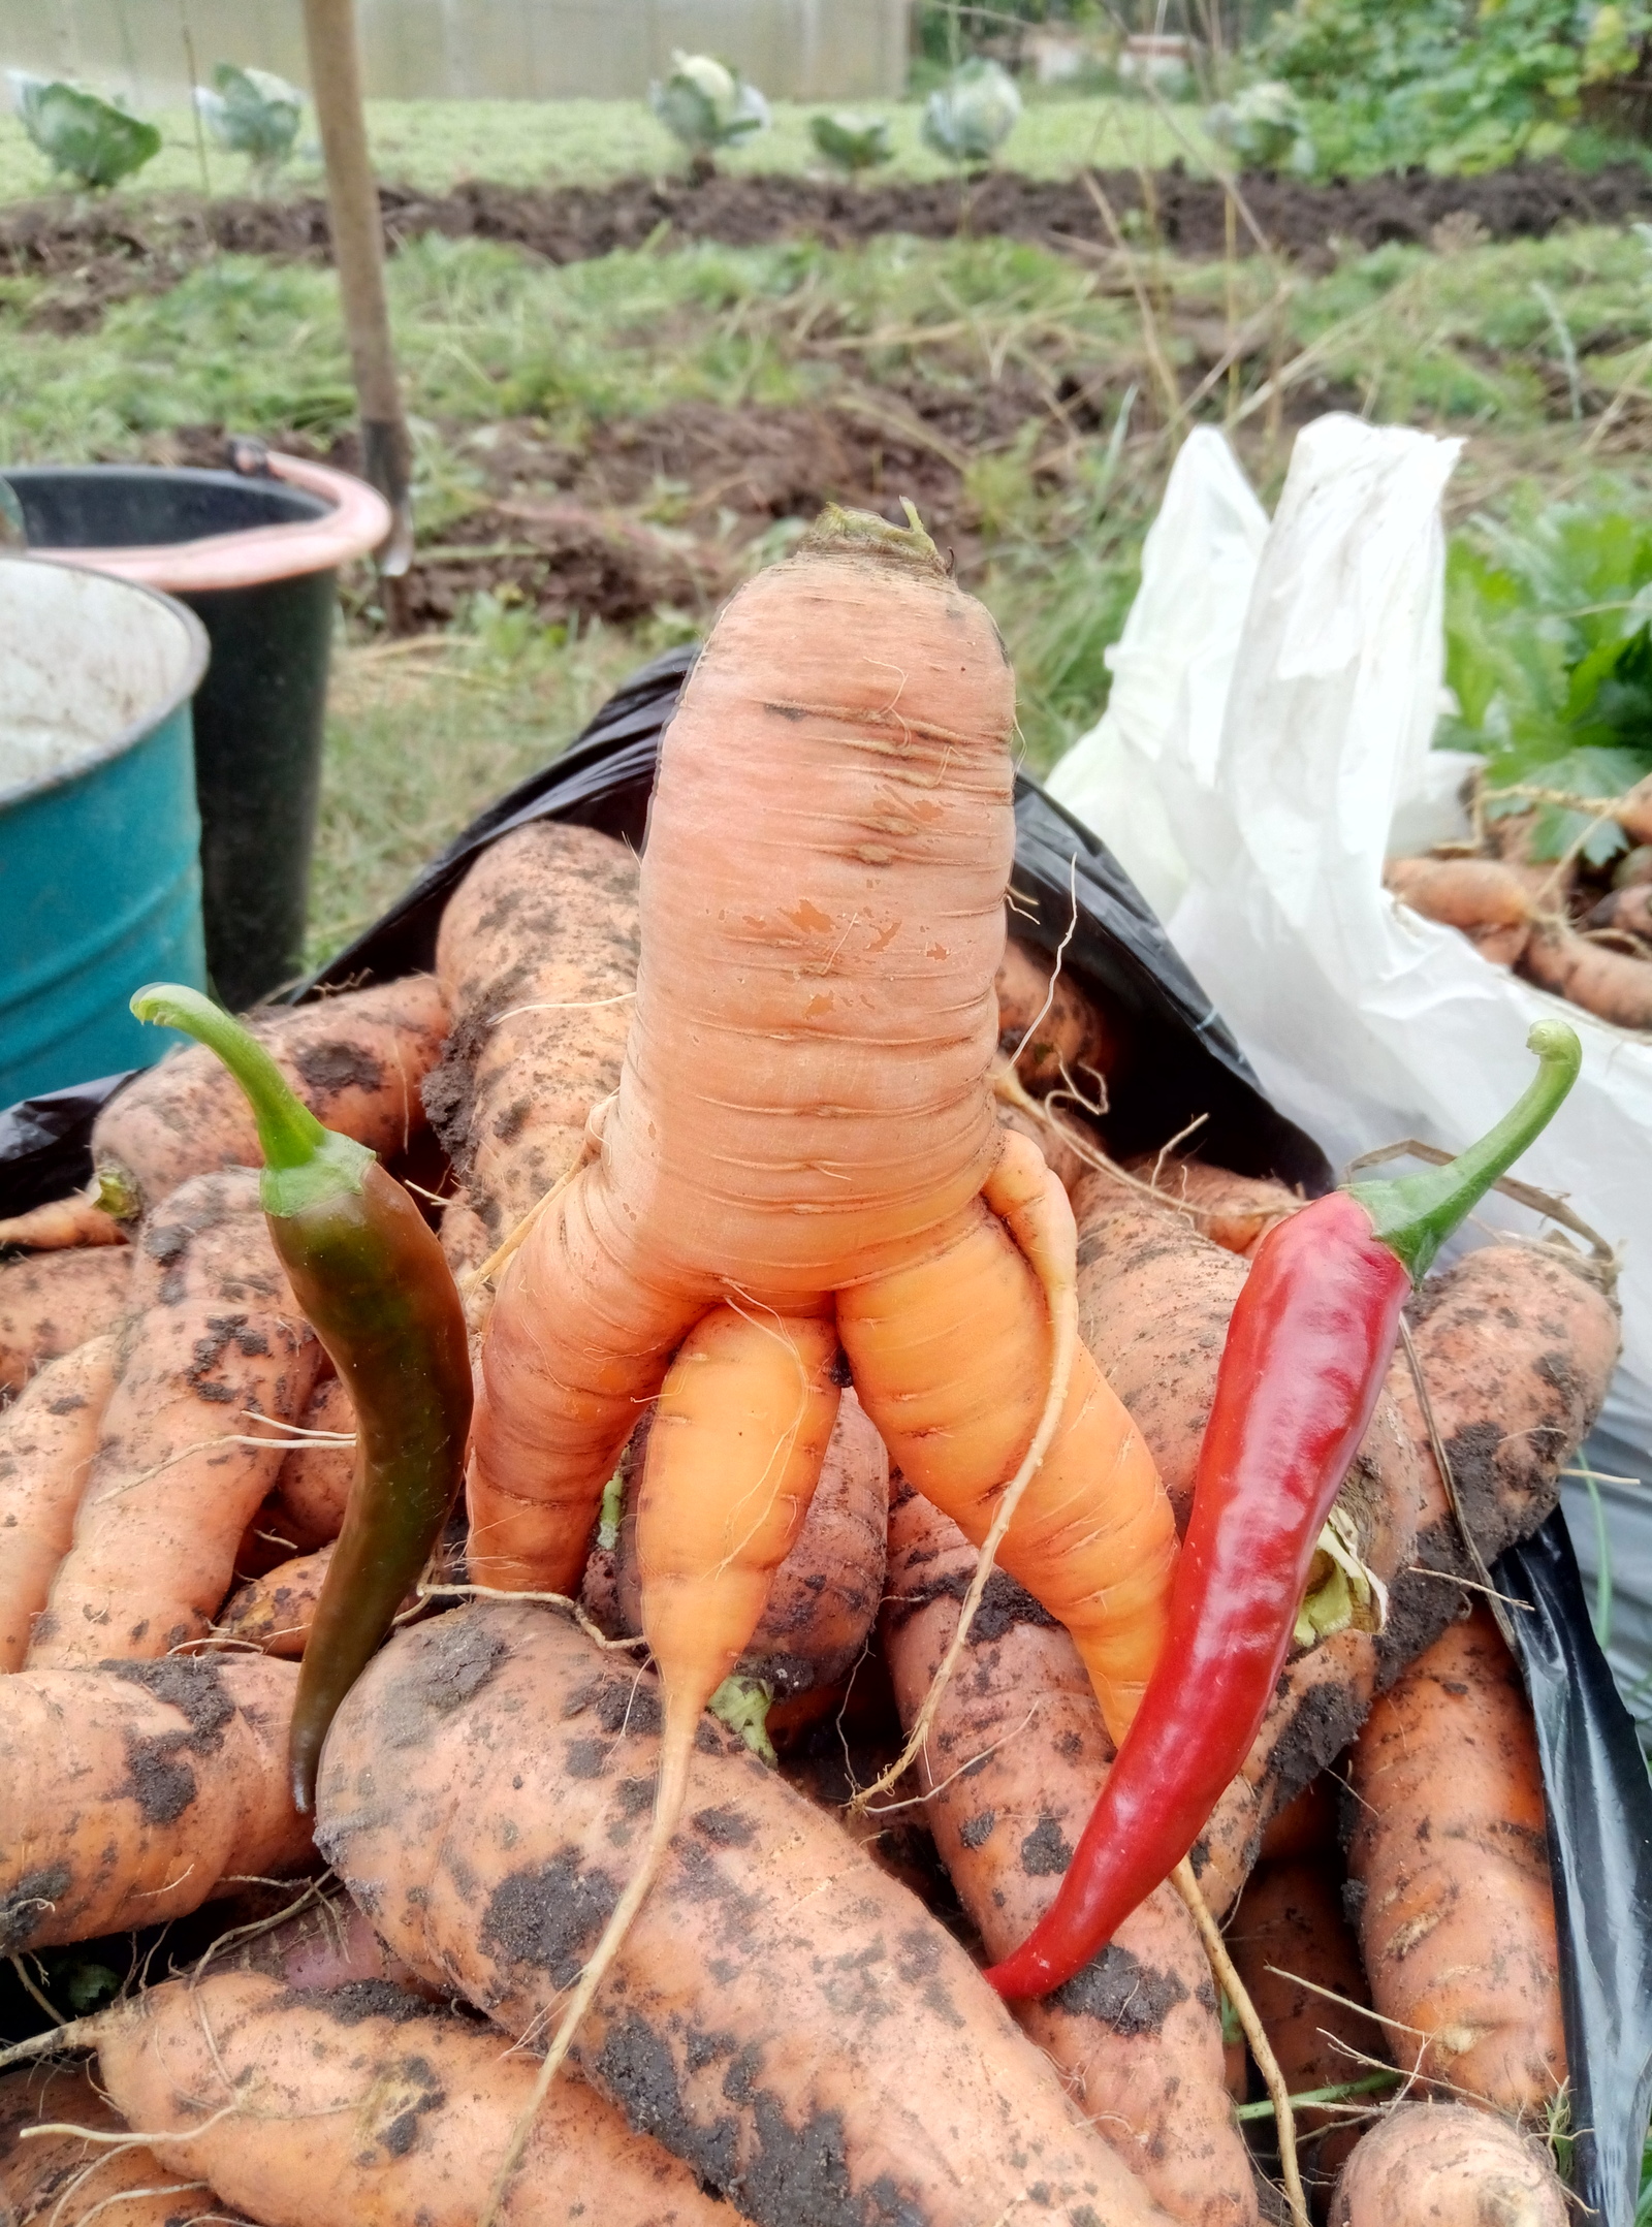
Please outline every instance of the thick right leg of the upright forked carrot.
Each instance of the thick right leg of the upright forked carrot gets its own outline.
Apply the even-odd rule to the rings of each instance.
[[[1026,1236],[1035,1252],[1038,1229]],[[839,1292],[837,1330],[891,1461],[980,1546],[1051,1376],[1029,1258],[975,1200],[922,1256]],[[1164,1639],[1176,1523],[1153,1456],[1084,1347],[997,1561],[1073,1635],[1120,1739]]]

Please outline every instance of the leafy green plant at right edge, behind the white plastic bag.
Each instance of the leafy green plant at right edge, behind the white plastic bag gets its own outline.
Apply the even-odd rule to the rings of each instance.
[[[1445,677],[1456,715],[1440,742],[1481,750],[1487,786],[1623,795],[1652,773],[1652,523],[1585,503],[1478,521],[1447,557]],[[1543,806],[1536,855],[1574,842],[1599,866],[1625,835]]]

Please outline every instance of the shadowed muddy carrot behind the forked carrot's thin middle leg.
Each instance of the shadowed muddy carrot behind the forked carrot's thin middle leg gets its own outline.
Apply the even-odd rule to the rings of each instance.
[[[643,1425],[626,1450],[632,1479],[641,1477],[648,1436]],[[637,1499],[626,1497],[619,1532],[617,1632],[641,1630]],[[844,1392],[819,1488],[735,1672],[770,1686],[781,1704],[837,1686],[877,1621],[886,1534],[888,1454],[855,1394]]]

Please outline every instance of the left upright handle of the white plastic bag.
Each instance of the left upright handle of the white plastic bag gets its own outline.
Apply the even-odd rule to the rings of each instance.
[[[1049,777],[1055,802],[1102,835],[1160,920],[1189,880],[1164,737],[1176,719],[1187,735],[1220,737],[1265,541],[1267,512],[1233,450],[1200,425],[1171,465],[1142,548],[1142,586],[1107,653],[1107,710]]]

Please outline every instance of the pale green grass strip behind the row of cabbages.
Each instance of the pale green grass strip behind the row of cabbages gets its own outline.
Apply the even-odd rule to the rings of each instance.
[[[728,171],[819,169],[808,118],[826,102],[775,102],[775,125],[746,147],[724,154]],[[877,176],[944,178],[948,165],[920,138],[922,107],[906,100],[857,102],[855,114],[886,116],[893,163]],[[187,109],[154,118],[165,145],[134,180],[134,192],[200,192],[200,151]],[[614,178],[661,176],[684,167],[684,149],[657,122],[646,100],[370,100],[367,131],[383,178],[445,194],[461,178],[501,185],[608,185]],[[1004,160],[1033,178],[1066,178],[1086,163],[1158,169],[1178,156],[1207,151],[1198,107],[1158,109],[1120,96],[1029,102]],[[216,194],[240,194],[247,167],[207,143],[207,180]],[[309,145],[287,171],[287,192],[321,189],[321,158]],[[53,192],[49,167],[16,116],[0,116],[0,203]]]

